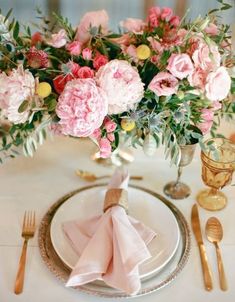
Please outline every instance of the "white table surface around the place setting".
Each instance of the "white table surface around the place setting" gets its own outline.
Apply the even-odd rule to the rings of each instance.
[[[19,296],[13,293],[22,246],[20,234],[24,211],[35,210],[39,224],[48,208],[59,197],[87,184],[75,175],[77,168],[93,171],[97,175],[111,173],[110,167],[90,160],[93,151],[94,147],[88,140],[60,137],[47,141],[33,158],[21,156],[0,166],[0,301],[104,301],[104,298],[65,288],[42,262],[37,234],[29,242],[24,292]],[[182,177],[190,185],[192,194],[185,200],[173,201],[188,222],[195,196],[204,187],[200,170],[198,148],[193,162],[184,168]],[[169,166],[161,148],[151,158],[146,157],[142,150],[135,151],[135,161],[130,165],[130,173],[143,175],[144,180],[138,183],[161,194],[164,184],[176,178],[176,168]],[[235,301],[235,187],[228,186],[223,191],[229,200],[224,210],[209,212],[199,208],[204,243],[213,272],[214,290],[204,290],[199,251],[192,236],[190,258],[180,275],[169,286],[144,297],[127,299],[128,301]],[[220,246],[228,279],[227,292],[219,289],[215,249],[205,238],[205,223],[210,216],[218,217],[224,228]]]

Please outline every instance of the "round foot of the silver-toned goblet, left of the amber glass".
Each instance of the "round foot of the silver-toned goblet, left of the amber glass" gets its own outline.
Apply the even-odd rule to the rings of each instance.
[[[165,185],[164,193],[172,199],[184,199],[188,197],[191,190],[188,185],[183,182],[172,181]]]

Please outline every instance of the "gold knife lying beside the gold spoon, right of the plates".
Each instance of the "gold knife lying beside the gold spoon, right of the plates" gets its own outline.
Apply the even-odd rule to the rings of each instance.
[[[196,204],[194,204],[192,207],[191,223],[192,223],[193,233],[195,235],[195,238],[196,238],[196,241],[198,244],[198,248],[200,251],[205,289],[210,291],[213,288],[212,275],[211,275],[211,270],[210,270],[207,256],[206,256],[206,249],[205,249],[205,246],[204,246],[204,243],[202,240],[202,232],[201,232],[201,227],[200,227],[198,208],[197,208]]]

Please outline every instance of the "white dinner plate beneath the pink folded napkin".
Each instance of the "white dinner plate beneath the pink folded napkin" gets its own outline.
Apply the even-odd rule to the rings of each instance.
[[[51,222],[51,241],[61,260],[73,269],[79,259],[62,230],[62,223],[89,218],[102,213],[106,187],[80,191],[62,204]],[[157,236],[148,245],[152,257],[140,266],[141,278],[159,272],[174,256],[180,231],[171,210],[155,196],[137,188],[128,188],[128,213],[152,228]]]

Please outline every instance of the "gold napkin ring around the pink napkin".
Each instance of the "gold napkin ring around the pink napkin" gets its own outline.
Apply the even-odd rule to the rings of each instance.
[[[124,189],[109,189],[105,194],[104,212],[113,206],[120,206],[128,211],[128,192]]]

